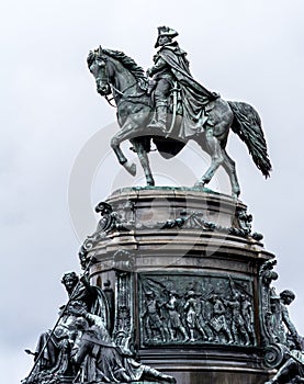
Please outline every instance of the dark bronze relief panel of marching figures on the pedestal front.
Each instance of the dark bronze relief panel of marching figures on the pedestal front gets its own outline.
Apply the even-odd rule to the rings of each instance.
[[[232,278],[214,276],[209,279],[209,292],[203,293],[194,286],[188,290],[188,282],[178,275],[170,275],[178,291],[161,281],[161,276],[143,280],[145,345],[256,345],[252,300],[247,283],[244,286]],[[204,276],[192,276],[191,284],[194,283],[204,284]]]

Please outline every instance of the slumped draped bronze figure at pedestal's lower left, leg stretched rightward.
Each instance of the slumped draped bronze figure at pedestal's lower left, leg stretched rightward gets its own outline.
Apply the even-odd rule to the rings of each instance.
[[[71,351],[75,383],[130,383],[142,379],[176,383],[172,376],[135,361],[114,343],[99,316],[79,312],[78,336]]]

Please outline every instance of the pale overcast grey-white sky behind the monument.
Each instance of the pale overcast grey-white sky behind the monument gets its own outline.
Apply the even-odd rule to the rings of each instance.
[[[228,153],[237,161],[240,197],[254,215],[254,229],[278,256],[275,286],[296,293],[290,312],[304,334],[303,11],[303,0],[1,3],[1,383],[18,383],[29,373],[32,360],[24,348],[34,349],[37,336],[55,324],[66,301],[60,278],[80,271],[80,241],[97,219],[92,207],[113,189],[134,183],[108,146],[115,110],[97,94],[87,54],[101,44],[146,69],[157,26],[164,24],[179,32],[195,79],[226,100],[250,103],[261,115],[271,178],[262,178],[234,134]],[[92,157],[83,160],[88,150]],[[166,166],[154,155],[158,183],[194,183],[189,174],[177,181],[169,174],[177,163],[190,167],[192,158],[199,161],[191,171],[202,176],[207,157],[200,165],[195,147]],[[77,171],[86,161],[88,173],[81,177]],[[69,190],[71,172],[76,182]],[[226,176],[219,172],[211,187],[227,192]]]

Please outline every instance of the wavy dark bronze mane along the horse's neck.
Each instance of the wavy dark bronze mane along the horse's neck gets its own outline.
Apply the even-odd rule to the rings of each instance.
[[[103,49],[99,48],[95,50],[91,50],[88,56],[88,65],[91,66],[93,60],[97,57],[102,58],[102,54],[112,57],[113,59],[117,60],[121,63],[124,68],[128,69],[131,74],[135,77],[135,79],[138,81],[139,87],[143,90],[146,90],[148,87],[148,79],[146,77],[146,74],[142,67],[139,67],[133,58],[130,56],[125,55],[121,50],[113,50],[113,49]]]

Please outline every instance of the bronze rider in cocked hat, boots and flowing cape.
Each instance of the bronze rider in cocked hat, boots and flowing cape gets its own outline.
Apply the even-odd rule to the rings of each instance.
[[[147,76],[155,80],[154,101],[157,114],[157,122],[149,127],[159,128],[166,132],[168,97],[177,82],[181,89],[181,98],[187,99],[188,115],[198,118],[198,112],[211,100],[219,95],[210,92],[196,82],[189,70],[187,53],[179,47],[178,42],[172,39],[178,32],[167,26],[158,27],[158,38],[155,48],[160,47],[154,56],[155,65],[147,70]],[[182,100],[183,103],[183,100]],[[183,108],[184,110],[184,108]]]

